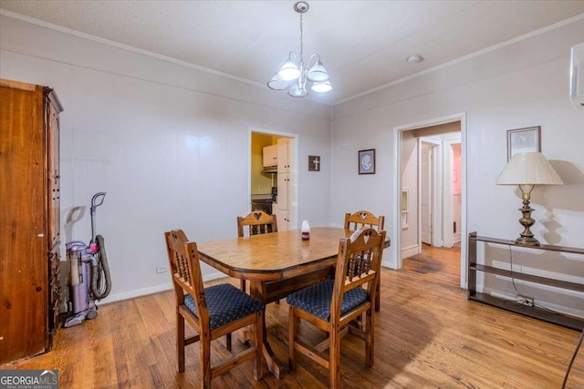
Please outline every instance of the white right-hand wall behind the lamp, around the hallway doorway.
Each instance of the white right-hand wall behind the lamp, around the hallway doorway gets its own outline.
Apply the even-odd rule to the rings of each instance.
[[[390,220],[398,217],[391,207],[393,128],[466,112],[468,229],[464,233],[475,230],[479,235],[516,239],[522,230],[517,222],[521,200],[515,189],[496,186],[495,179],[506,165],[506,130],[541,126],[542,152],[566,185],[535,189],[532,207],[537,224],[532,230],[542,243],[584,247],[584,109],[574,108],[568,98],[569,49],[583,36],[580,19],[333,107],[333,222],[341,218],[336,210],[360,209],[365,201],[356,193],[360,186],[371,189],[365,192],[370,208]],[[357,150],[373,147],[376,174],[357,175]],[[394,241],[396,231],[391,226],[388,223]],[[584,282],[584,259],[540,261],[540,257],[514,263]],[[515,294],[510,282],[499,287]],[[545,299],[584,315],[581,296],[546,295]]]

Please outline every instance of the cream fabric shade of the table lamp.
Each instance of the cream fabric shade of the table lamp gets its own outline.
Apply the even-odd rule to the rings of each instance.
[[[501,172],[497,185],[563,185],[558,173],[540,152],[517,153]]]

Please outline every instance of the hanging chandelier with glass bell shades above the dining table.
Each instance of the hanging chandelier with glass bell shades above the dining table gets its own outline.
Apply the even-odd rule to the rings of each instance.
[[[308,3],[299,1],[294,5],[294,10],[300,14],[300,56],[294,52],[288,54],[285,62],[280,64],[276,74],[267,83],[267,87],[274,90],[287,90],[292,97],[305,97],[308,94],[307,84],[314,92],[325,93],[332,89],[327,69],[322,66],[318,53],[308,58],[305,67],[302,53],[302,14],[308,11]],[[314,59],[314,61],[313,61]],[[313,64],[310,66],[310,64]]]

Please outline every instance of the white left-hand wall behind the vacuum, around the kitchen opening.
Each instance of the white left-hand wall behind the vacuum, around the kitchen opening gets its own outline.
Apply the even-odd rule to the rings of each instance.
[[[168,264],[163,231],[182,228],[197,242],[236,236],[235,217],[249,210],[249,128],[297,134],[298,219],[328,225],[328,106],[5,15],[0,37],[0,77],[54,87],[65,107],[61,220],[108,192],[97,215],[107,301],[170,286],[155,272]],[[321,156],[318,174],[308,155]],[[89,210],[62,235],[89,241]]]

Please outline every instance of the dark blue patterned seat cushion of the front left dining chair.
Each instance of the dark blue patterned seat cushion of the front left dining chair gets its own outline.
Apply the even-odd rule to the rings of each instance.
[[[204,288],[204,296],[209,308],[212,330],[264,309],[261,302],[229,283]],[[190,294],[184,296],[184,305],[197,314],[197,304]]]

